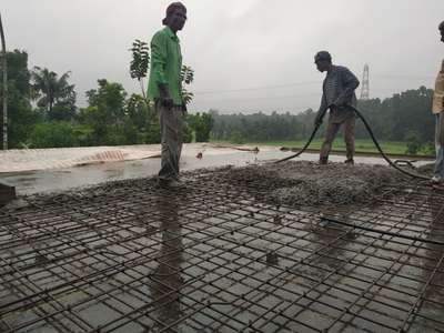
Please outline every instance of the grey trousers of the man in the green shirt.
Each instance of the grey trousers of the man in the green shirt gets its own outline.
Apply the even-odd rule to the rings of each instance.
[[[179,162],[182,153],[182,107],[167,109],[160,103],[155,104],[160,115],[160,130],[162,143],[162,162],[159,178],[162,180],[176,180],[179,178]]]

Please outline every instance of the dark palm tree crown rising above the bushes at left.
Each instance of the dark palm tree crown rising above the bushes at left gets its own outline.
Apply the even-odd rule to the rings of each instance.
[[[51,113],[54,103],[70,98],[74,90],[74,85],[68,83],[70,75],[71,72],[65,72],[59,78],[53,71],[34,67],[32,88],[34,98],[38,99],[37,104]]]

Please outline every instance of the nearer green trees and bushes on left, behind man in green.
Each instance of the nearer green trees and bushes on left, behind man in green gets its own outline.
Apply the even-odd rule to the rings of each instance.
[[[85,108],[77,105],[75,87],[69,82],[71,72],[58,74],[40,67],[30,70],[27,52],[7,52],[9,148],[160,143],[159,117],[144,92],[150,63],[147,43],[137,40],[130,51],[130,74],[140,81],[141,93],[129,94],[121,83],[100,79],[97,88],[85,92]],[[183,67],[185,103],[193,98],[185,89],[193,74],[191,68]],[[212,124],[208,113],[186,114],[184,141],[209,141]]]

